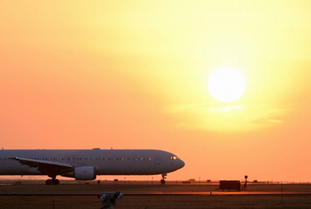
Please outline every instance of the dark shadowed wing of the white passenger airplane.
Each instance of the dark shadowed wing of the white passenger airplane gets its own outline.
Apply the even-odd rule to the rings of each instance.
[[[61,173],[71,171],[74,166],[68,163],[57,163],[50,161],[32,160],[27,158],[9,158],[14,161],[19,161],[23,165],[37,168],[42,173]]]

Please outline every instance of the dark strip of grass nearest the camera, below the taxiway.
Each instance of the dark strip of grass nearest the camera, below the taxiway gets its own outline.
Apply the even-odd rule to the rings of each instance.
[[[94,196],[2,196],[1,209],[99,209]],[[310,209],[311,197],[304,195],[190,196],[124,195],[115,209]]]

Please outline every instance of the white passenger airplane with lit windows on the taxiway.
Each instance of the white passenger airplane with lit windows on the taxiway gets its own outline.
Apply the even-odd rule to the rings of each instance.
[[[97,175],[166,175],[185,166],[176,155],[154,149],[16,149],[0,150],[0,175],[47,175],[94,180]]]

